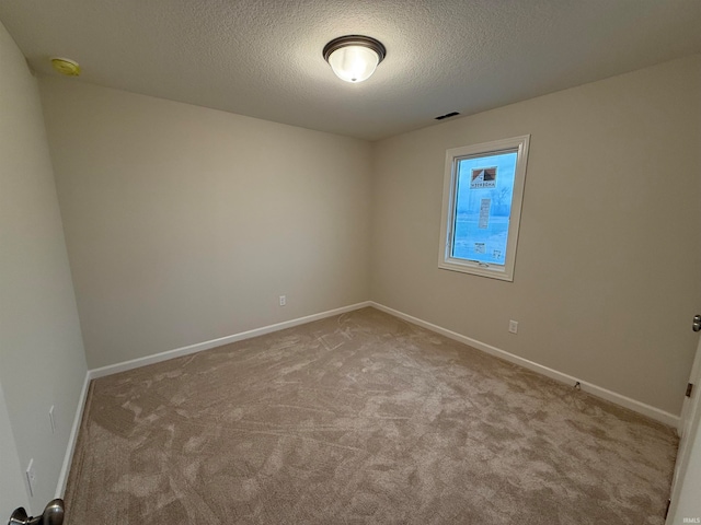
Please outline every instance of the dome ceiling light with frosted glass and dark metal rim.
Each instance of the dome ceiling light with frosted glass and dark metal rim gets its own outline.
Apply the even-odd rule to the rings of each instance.
[[[346,35],[326,44],[323,55],[336,77],[356,83],[370,78],[387,56],[387,49],[369,36]]]

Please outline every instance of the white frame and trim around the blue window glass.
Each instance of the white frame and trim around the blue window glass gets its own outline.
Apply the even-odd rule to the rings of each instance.
[[[452,148],[446,151],[446,171],[443,186],[443,212],[440,226],[440,250],[438,267],[445,270],[462,271],[475,276],[514,281],[516,247],[518,245],[518,228],[521,218],[524,186],[526,184],[526,165],[528,163],[528,144],[530,135],[510,139],[495,140],[482,144]],[[458,185],[458,163],[470,156],[486,156],[503,151],[517,150],[516,174],[514,178],[514,196],[509,215],[508,241],[504,265],[479,262],[452,257],[453,228],[456,224],[456,203]]]

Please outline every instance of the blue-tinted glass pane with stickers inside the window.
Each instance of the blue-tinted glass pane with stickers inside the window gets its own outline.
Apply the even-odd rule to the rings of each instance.
[[[518,150],[458,159],[451,256],[504,265]]]

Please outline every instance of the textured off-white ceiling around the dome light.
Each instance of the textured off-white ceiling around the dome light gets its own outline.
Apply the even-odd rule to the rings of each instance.
[[[39,74],[365,139],[701,52],[700,0],[1,0]],[[360,84],[321,56],[344,34],[387,58]]]

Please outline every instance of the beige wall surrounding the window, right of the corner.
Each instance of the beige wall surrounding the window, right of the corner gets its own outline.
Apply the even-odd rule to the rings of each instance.
[[[694,56],[376,143],[371,299],[679,413],[701,307],[699,93]],[[521,135],[514,282],[438,269],[446,150]]]

